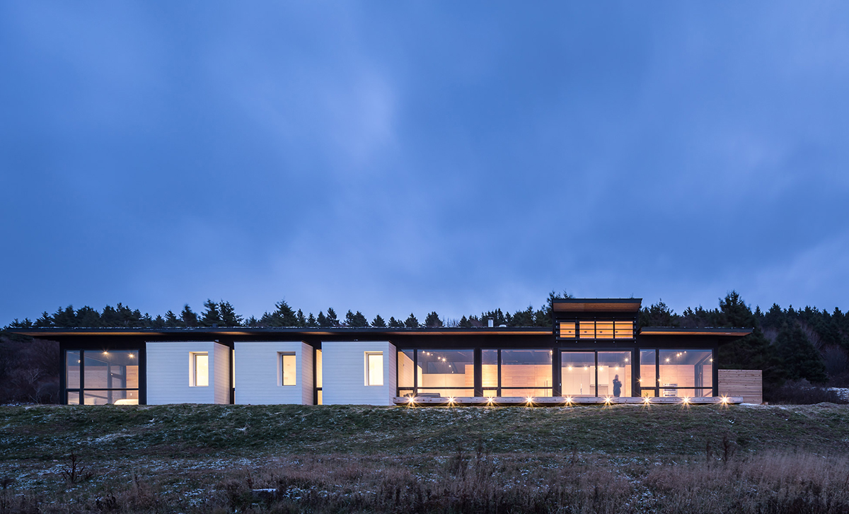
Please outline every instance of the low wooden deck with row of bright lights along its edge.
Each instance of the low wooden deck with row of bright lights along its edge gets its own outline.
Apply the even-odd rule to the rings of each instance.
[[[633,396],[616,397],[600,397],[600,396],[582,396],[579,398],[566,399],[562,396],[536,396],[531,399],[521,396],[463,396],[458,398],[444,397],[427,397],[417,396],[411,402],[406,396],[396,396],[392,399],[395,405],[415,405],[415,406],[464,406],[464,405],[490,405],[490,406],[509,406],[520,405],[524,407],[562,407],[568,405],[618,405],[618,404],[637,404],[637,405],[714,405],[714,404],[741,404],[743,403],[742,396],[707,396],[697,398],[639,398]]]

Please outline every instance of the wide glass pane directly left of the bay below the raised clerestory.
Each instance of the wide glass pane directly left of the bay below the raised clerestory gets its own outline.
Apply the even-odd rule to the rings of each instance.
[[[550,349],[501,350],[502,396],[551,396]]]

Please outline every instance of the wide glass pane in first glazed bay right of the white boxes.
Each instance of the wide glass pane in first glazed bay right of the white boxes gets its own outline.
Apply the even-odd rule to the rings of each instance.
[[[471,349],[417,350],[419,394],[475,395],[475,353]]]

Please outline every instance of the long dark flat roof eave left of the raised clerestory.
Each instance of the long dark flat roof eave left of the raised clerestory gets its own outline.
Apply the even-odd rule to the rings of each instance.
[[[434,336],[434,335],[551,335],[549,327],[480,327],[480,328],[371,328],[371,327],[334,327],[334,328],[301,328],[301,327],[199,327],[199,328],[27,328],[14,329],[9,332],[29,336],[31,338],[51,338],[65,336],[168,336],[184,338],[188,335],[204,337],[233,337],[233,336],[267,336],[269,334],[300,334],[303,336]]]

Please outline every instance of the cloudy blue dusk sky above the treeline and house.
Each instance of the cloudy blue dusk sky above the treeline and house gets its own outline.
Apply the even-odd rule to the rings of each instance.
[[[849,309],[849,3],[0,3],[0,326]]]

